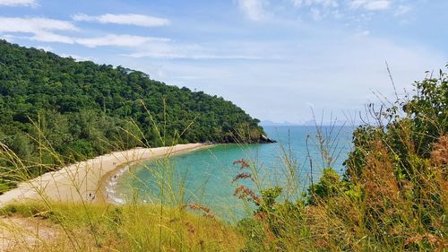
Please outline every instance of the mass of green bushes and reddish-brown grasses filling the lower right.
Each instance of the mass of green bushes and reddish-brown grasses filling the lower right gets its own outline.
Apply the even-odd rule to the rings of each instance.
[[[282,201],[284,185],[247,193],[258,208],[239,225],[245,251],[444,251],[448,86],[439,75],[417,82],[410,99],[367,106],[375,125],[354,131],[343,179],[327,166],[296,203]]]

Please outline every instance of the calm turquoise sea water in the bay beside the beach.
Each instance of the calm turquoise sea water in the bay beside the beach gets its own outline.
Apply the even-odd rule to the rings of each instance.
[[[266,133],[278,143],[270,144],[220,144],[194,152],[172,156],[168,160],[147,161],[138,164],[117,179],[117,202],[138,199],[142,202],[159,203],[163,184],[164,201],[196,202],[211,208],[211,212],[228,220],[238,219],[250,213],[247,204],[234,196],[238,185],[254,188],[249,179],[232,183],[241,172],[234,161],[246,159],[258,170],[261,187],[285,186],[285,153],[295,161],[295,175],[300,184],[299,192],[306,191],[311,177],[318,180],[325,167],[319,151],[315,126],[265,126]],[[323,126],[325,139],[333,157],[332,167],[340,174],[351,148],[351,127]],[[306,138],[308,148],[306,148]],[[309,155],[308,155],[309,151]],[[313,162],[311,173],[309,158]],[[290,165],[289,165],[290,167]],[[248,171],[246,169],[246,171]],[[163,177],[163,179],[162,179]],[[161,183],[168,180],[168,183]],[[170,194],[170,192],[173,192]],[[170,197],[172,196],[172,197]],[[180,197],[180,198],[179,198]],[[246,210],[245,210],[246,209]]]

